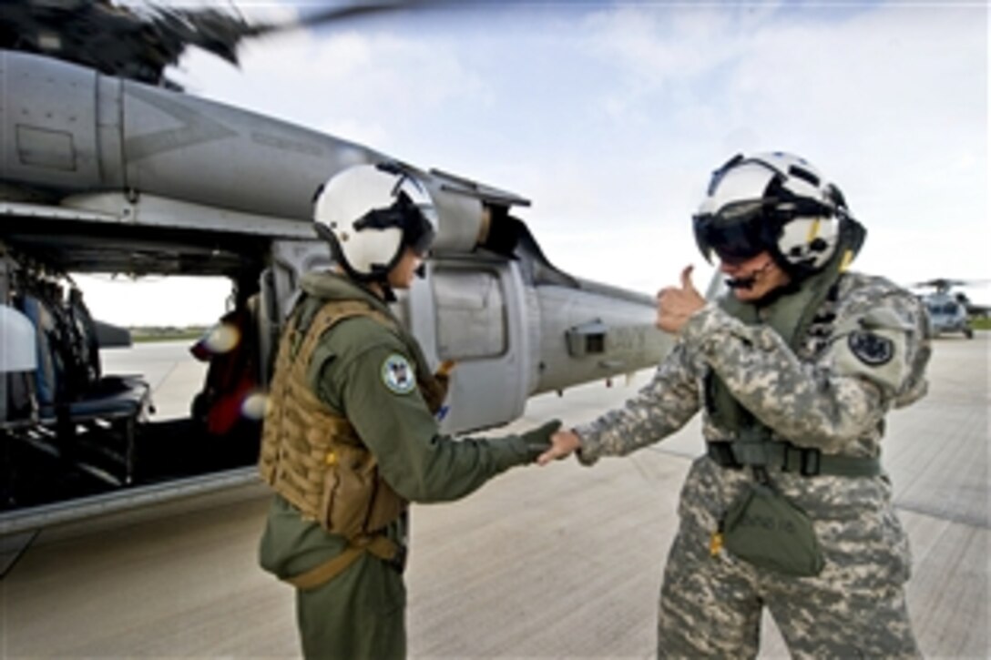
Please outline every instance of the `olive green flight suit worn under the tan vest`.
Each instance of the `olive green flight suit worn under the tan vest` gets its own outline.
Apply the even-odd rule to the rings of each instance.
[[[307,297],[294,313],[301,314],[303,331],[327,300],[367,301],[391,317],[382,300],[339,275],[306,275],[301,288]],[[533,453],[519,436],[455,441],[440,435],[418,388],[407,391],[386,376],[396,362],[415,366],[410,352],[396,330],[358,316],[324,334],[307,369],[313,391],[353,425],[398,495],[419,502],[457,499],[512,466],[532,462]],[[397,520],[385,533],[404,544],[402,526],[403,520]],[[276,495],[260,559],[267,571],[286,578],[326,562],[346,546],[343,536],[302,519]],[[303,654],[349,660],[404,657],[405,602],[399,569],[363,554],[324,585],[296,592]]]

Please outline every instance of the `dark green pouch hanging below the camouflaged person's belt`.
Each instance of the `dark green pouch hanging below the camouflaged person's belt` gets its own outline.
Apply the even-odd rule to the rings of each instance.
[[[799,578],[823,570],[823,552],[812,520],[770,486],[750,484],[726,509],[725,548],[758,568]]]

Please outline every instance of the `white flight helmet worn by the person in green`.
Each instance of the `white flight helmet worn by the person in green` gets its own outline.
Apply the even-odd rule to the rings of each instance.
[[[406,247],[425,256],[437,233],[426,186],[401,165],[355,165],[317,192],[317,234],[359,281],[385,281]]]

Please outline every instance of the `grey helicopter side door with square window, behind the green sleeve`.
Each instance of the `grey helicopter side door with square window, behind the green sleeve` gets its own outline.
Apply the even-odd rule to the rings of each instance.
[[[409,325],[433,365],[454,361],[444,432],[504,424],[529,392],[526,300],[515,262],[435,258],[409,291]]]

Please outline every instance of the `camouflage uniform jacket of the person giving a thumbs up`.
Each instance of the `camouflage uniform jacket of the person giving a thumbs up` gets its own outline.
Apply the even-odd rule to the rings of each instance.
[[[622,408],[575,428],[582,438],[579,460],[591,465],[602,456],[625,455],[677,431],[704,407],[711,370],[775,440],[824,454],[876,457],[888,410],[926,391],[927,323],[915,296],[886,279],[852,273],[841,275],[797,352],[773,329],[745,325],[710,303],[682,328],[651,383]],[[736,439],[708,412],[703,434],[711,442]],[[897,545],[891,568],[907,577],[908,549],[891,511],[887,476],[810,478],[772,471],[770,477],[816,521],[833,560],[864,550],[866,541],[878,543],[885,554]],[[725,507],[751,479],[749,471],[697,459],[682,493],[683,533],[715,530]],[[828,524],[836,520],[863,524]]]

